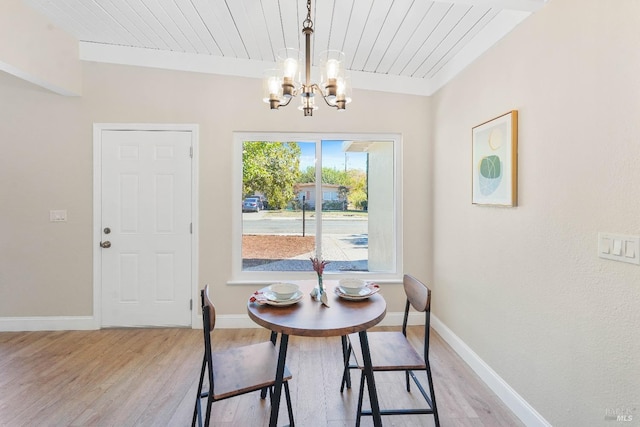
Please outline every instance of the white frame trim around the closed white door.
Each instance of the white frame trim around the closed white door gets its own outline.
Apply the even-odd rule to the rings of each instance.
[[[102,327],[102,257],[100,241],[102,233],[102,131],[176,131],[190,132],[193,155],[191,161],[191,328],[198,325],[198,143],[197,124],[154,124],[154,123],[94,123],[93,124],[93,321],[94,328]]]

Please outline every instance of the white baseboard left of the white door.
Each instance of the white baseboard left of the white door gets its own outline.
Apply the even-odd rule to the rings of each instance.
[[[2,317],[0,331],[80,331],[100,329],[93,316]]]

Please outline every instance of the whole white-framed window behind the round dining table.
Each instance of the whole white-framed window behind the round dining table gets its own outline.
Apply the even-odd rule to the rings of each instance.
[[[399,135],[236,133],[234,144],[234,281],[311,278],[312,256],[327,276],[400,276]]]

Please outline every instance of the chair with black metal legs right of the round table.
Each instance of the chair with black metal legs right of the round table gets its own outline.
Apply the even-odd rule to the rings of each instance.
[[[431,378],[431,366],[429,364],[429,330],[431,321],[431,290],[417,280],[416,278],[404,275],[403,278],[404,291],[407,295],[407,302],[404,311],[404,320],[402,322],[402,331],[397,332],[368,332],[369,348],[371,350],[371,362],[373,371],[404,371],[407,385],[407,392],[411,392],[410,378],[420,390],[428,404],[428,408],[417,409],[381,409],[382,415],[413,415],[413,414],[432,414],[434,416],[436,426],[440,426],[438,418],[438,409],[436,407],[436,397],[433,390],[433,380]],[[407,319],[409,317],[410,307],[425,314],[424,328],[424,349],[423,354],[419,354],[407,339]],[[364,369],[362,350],[360,348],[360,339],[358,334],[351,334],[347,337],[346,342],[343,341],[345,357],[344,371],[342,375],[342,385],[340,391],[344,390],[344,386],[351,388],[351,369]],[[353,357],[351,357],[353,356]],[[351,363],[354,359],[355,362]],[[414,371],[425,371],[429,386],[429,394],[416,377]],[[360,376],[360,392],[358,395],[358,414],[356,418],[356,426],[360,425],[360,419],[363,415],[371,415],[370,410],[362,410],[362,399],[364,392],[364,375]]]

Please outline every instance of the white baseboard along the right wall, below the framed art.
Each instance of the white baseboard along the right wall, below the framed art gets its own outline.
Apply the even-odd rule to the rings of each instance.
[[[551,427],[542,415],[433,314],[431,327],[527,427]]]

